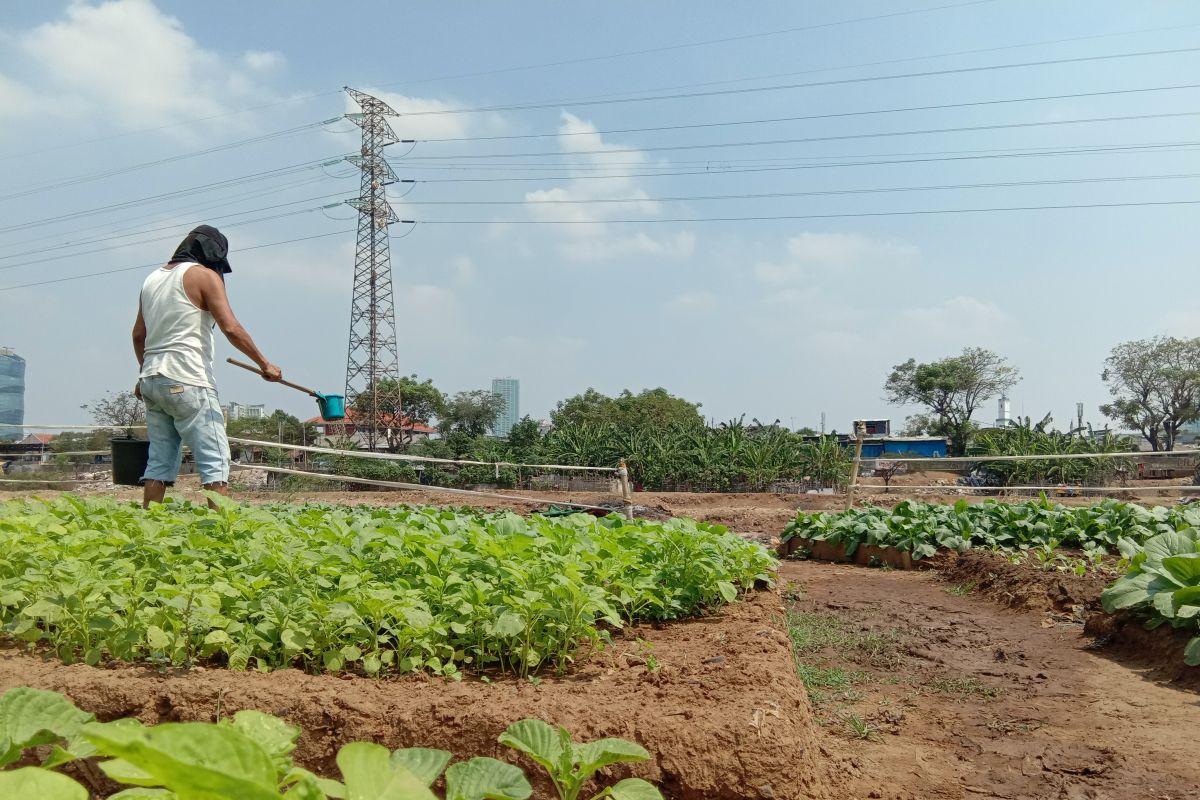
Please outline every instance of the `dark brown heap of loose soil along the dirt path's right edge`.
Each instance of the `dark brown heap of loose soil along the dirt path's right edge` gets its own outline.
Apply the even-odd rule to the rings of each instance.
[[[1097,572],[1075,575],[1042,569],[1028,560],[1014,564],[989,551],[943,553],[929,561],[943,581],[970,587],[1009,608],[1033,612],[1082,614],[1099,607],[1100,593],[1114,576]]]

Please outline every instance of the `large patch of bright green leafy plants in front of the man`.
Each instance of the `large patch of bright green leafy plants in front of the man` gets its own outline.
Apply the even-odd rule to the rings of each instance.
[[[0,504],[0,624],[70,663],[564,669],[607,630],[770,582],[720,525],[444,509]]]

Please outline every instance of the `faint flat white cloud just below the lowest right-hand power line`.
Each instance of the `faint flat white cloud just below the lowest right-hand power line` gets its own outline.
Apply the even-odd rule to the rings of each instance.
[[[781,285],[820,279],[841,270],[908,265],[919,257],[920,251],[908,242],[806,231],[787,240],[785,260],[760,261],[754,271],[762,283]]]

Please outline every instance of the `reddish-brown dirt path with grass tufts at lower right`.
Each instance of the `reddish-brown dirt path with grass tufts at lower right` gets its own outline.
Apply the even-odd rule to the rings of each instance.
[[[842,798],[1181,800],[1200,792],[1200,694],[934,572],[781,569]]]

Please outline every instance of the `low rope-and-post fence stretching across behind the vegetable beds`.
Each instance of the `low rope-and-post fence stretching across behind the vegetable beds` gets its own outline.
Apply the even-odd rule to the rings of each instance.
[[[24,425],[10,426],[23,428],[60,428],[60,429],[84,429],[84,431],[124,431],[127,427],[142,428],[144,426],[89,426],[89,425]],[[250,455],[250,463],[234,463],[233,467],[241,474],[258,471],[264,476],[277,476],[277,480],[265,481],[260,488],[296,488],[304,486],[343,485],[352,489],[359,488],[385,488],[401,491],[422,491],[430,493],[444,493],[461,497],[476,497],[492,500],[504,500],[523,505],[557,504],[566,507],[580,507],[587,510],[606,509],[611,505],[596,506],[586,503],[568,503],[551,498],[534,498],[529,495],[504,494],[496,489],[520,488],[523,491],[541,491],[547,493],[569,492],[595,492],[619,494],[628,505],[632,487],[629,482],[628,471],[624,465],[619,467],[594,467],[581,464],[556,464],[556,463],[522,463],[512,461],[484,461],[470,458],[438,458],[431,456],[415,456],[410,453],[374,452],[365,450],[344,450],[332,446],[296,445],[281,441],[268,441],[259,439],[247,439],[230,437],[230,444],[241,447]],[[72,462],[68,464],[49,463],[44,459],[50,457],[83,458],[106,456],[107,450],[78,450],[55,452],[53,450],[32,451],[0,451],[0,459],[41,459],[41,463],[25,461],[23,468],[46,467],[48,470],[73,467],[76,476],[64,476],[61,473],[48,471],[44,477],[34,473],[19,471],[14,476],[10,473],[0,477],[0,483],[5,485],[46,485],[46,486],[110,486],[112,475],[102,470],[89,470],[88,474],[79,474],[92,464]],[[294,457],[301,455],[302,463],[298,463]],[[308,459],[307,456],[314,458]],[[293,461],[289,461],[293,459]],[[1020,481],[1012,483],[997,481],[995,477],[986,480],[977,477],[980,467],[988,464],[1006,463],[1046,463],[1098,461],[1105,464],[1123,464],[1116,471],[1099,470],[1092,477],[1084,480],[1062,481]],[[1174,463],[1172,463],[1174,462]],[[19,462],[18,462],[19,463]],[[364,470],[364,463],[390,463],[403,468],[400,473],[374,474]],[[1136,463],[1138,470],[1128,469],[1130,463]],[[1153,465],[1152,465],[1153,464]],[[106,467],[95,464],[95,467]],[[299,468],[298,468],[299,467]],[[450,468],[446,474],[443,468]],[[458,470],[455,473],[454,470]],[[473,470],[473,471],[463,471]],[[504,471],[502,474],[502,470]],[[920,485],[905,483],[895,480],[898,475],[920,474],[925,471],[959,471],[970,473],[960,477],[955,483],[926,482]],[[437,473],[443,482],[425,480],[430,473]],[[460,485],[446,485],[446,479],[461,480]],[[514,477],[515,475],[515,477]],[[407,480],[408,476],[420,476],[418,480]],[[1026,474],[1025,477],[1048,477],[1048,474]],[[1147,477],[1148,476],[1148,477]],[[504,480],[502,480],[502,477]],[[1012,477],[1012,475],[1010,475]],[[1147,482],[1156,480],[1153,485],[1130,486],[1129,479]],[[1177,482],[1178,480],[1192,479],[1192,485]],[[278,479],[298,479],[290,485]],[[300,480],[302,479],[302,480]],[[1116,479],[1116,480],[1114,480]],[[505,482],[506,481],[506,482]],[[882,482],[881,482],[882,481]],[[1169,482],[1172,481],[1172,482]],[[307,483],[306,483],[307,482]],[[259,488],[259,487],[252,487]],[[890,458],[886,455],[860,458],[850,475],[848,485],[842,491],[815,486],[806,480],[774,480],[761,482],[748,482],[722,486],[696,486],[696,485],[666,485],[661,487],[664,492],[715,492],[724,493],[773,493],[773,494],[841,494],[845,492],[847,500],[852,503],[853,493],[940,493],[949,495],[984,495],[1000,497],[1006,494],[1022,493],[1055,493],[1058,495],[1130,495],[1130,494],[1163,494],[1178,493],[1190,495],[1200,493],[1200,450],[1175,450],[1175,451],[1147,451],[1147,452],[1088,452],[1088,453],[1024,453],[1024,455],[970,455],[970,456],[932,456],[911,457],[901,456]]]

